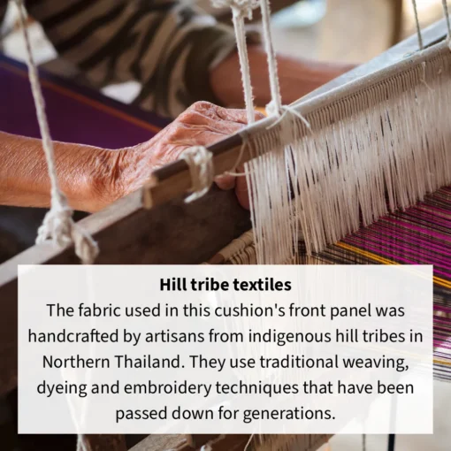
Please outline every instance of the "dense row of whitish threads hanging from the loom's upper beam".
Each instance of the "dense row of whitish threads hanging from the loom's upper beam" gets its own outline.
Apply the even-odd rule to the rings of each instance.
[[[304,241],[308,255],[405,210],[451,183],[447,139],[451,55],[249,139],[248,184],[258,264],[281,264]],[[388,205],[387,205],[388,199]]]

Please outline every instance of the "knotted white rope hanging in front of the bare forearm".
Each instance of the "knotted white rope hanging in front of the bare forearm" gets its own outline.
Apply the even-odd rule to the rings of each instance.
[[[28,76],[31,90],[34,98],[36,115],[39,123],[39,129],[42,136],[42,148],[45,153],[47,167],[50,176],[50,211],[45,216],[42,226],[38,230],[36,242],[52,240],[57,246],[64,247],[74,243],[75,253],[80,257],[83,264],[92,264],[98,254],[96,241],[88,233],[83,231],[80,226],[73,222],[73,210],[67,203],[67,198],[61,191],[57,181],[57,168],[55,166],[55,153],[53,141],[50,137],[49,121],[45,113],[45,102],[42,96],[42,88],[39,82],[39,75],[34,63],[33,52],[31,50],[30,39],[27,31],[27,23],[24,12],[23,0],[16,0],[19,8],[20,28],[25,40],[27,50]]]

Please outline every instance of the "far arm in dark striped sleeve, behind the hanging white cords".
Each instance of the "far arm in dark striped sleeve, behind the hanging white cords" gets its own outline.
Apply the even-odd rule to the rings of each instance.
[[[135,80],[142,108],[176,117],[205,100],[242,105],[241,74],[232,27],[173,0],[27,0],[61,57],[96,86]],[[0,0],[1,10],[2,0]],[[1,11],[0,11],[1,16]],[[256,104],[270,101],[265,54],[255,34],[248,50]],[[348,71],[348,65],[279,56],[284,103]]]

